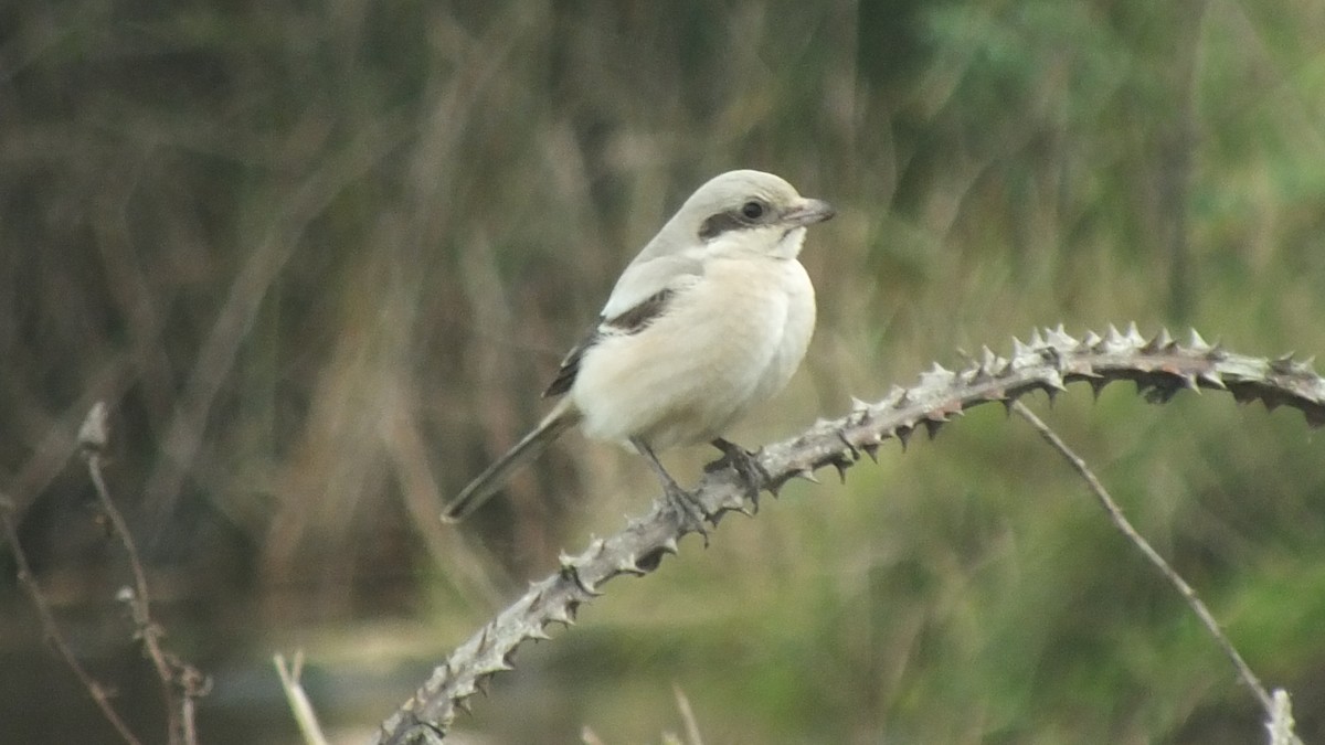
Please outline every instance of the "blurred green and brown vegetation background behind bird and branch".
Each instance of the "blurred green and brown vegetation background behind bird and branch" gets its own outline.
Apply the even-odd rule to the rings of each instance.
[[[61,627],[148,742],[78,424],[203,742],[338,741],[592,534],[637,457],[563,439],[440,504],[543,411],[624,264],[735,167],[831,200],[819,331],[747,445],[1064,322],[1325,354],[1318,0],[0,7],[0,492]],[[1185,334],[1182,334],[1185,335]],[[1122,386],[1031,402],[1325,738],[1325,457],[1300,414]],[[714,453],[669,453],[682,483]],[[476,701],[473,742],[1255,742],[1253,699],[1002,407],[798,483],[621,579]],[[0,551],[7,742],[115,742]]]

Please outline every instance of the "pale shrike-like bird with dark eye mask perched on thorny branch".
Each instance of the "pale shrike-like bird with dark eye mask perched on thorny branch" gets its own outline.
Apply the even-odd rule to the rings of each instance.
[[[444,506],[473,513],[519,468],[574,426],[591,440],[637,451],[682,520],[708,516],[677,485],[659,451],[712,443],[758,497],[755,453],[723,439],[790,382],[815,329],[815,289],[799,261],[806,229],[827,201],[754,170],[712,178],[621,272],[584,338],[564,357],[538,426]]]

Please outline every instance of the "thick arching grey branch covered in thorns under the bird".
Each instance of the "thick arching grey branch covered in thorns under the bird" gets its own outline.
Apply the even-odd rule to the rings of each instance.
[[[1090,383],[1096,394],[1108,383],[1132,380],[1154,403],[1167,402],[1186,388],[1222,390],[1238,402],[1259,399],[1268,408],[1295,407],[1310,427],[1325,424],[1325,378],[1312,370],[1309,361],[1234,354],[1207,343],[1195,331],[1190,342],[1179,345],[1167,330],[1146,339],[1136,325],[1126,331],[1110,326],[1102,337],[1088,333],[1081,339],[1059,326],[1036,330],[1030,342],[1014,339],[1010,358],[986,347],[961,371],[935,365],[910,388],[894,387],[876,403],[857,400],[847,416],[820,420],[802,435],[761,451],[758,460],[768,475],[762,487],[776,493],[794,477],[814,480],[814,472],[825,465],[845,479],[861,455],[873,459],[890,437],[905,445],[917,428],[933,436],[967,408],[990,402],[1011,407],[1037,390],[1052,398],[1079,380]],[[726,512],[749,513],[743,494],[745,487],[730,468],[708,473],[694,492],[714,525]],[[456,709],[465,709],[468,699],[494,673],[511,669],[519,644],[547,639],[553,623],[574,623],[579,606],[602,594],[602,586],[612,578],[656,569],[665,554],[677,551],[677,541],[686,532],[682,524],[681,516],[655,502],[647,516],[629,521],[620,533],[591,541],[579,555],[563,555],[559,571],[533,583],[452,652],[382,724],[374,742],[437,742]],[[1287,695],[1280,693],[1276,691],[1276,708],[1281,705],[1287,712]]]

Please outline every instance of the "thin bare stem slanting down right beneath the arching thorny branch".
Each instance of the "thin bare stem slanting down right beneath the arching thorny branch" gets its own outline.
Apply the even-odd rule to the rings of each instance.
[[[1035,427],[1035,430],[1040,433],[1040,436],[1044,437],[1044,440],[1049,443],[1049,445],[1052,445],[1055,449],[1059,451],[1059,453],[1063,455],[1063,457],[1072,465],[1072,468],[1076,469],[1076,472],[1081,476],[1081,479],[1085,480],[1086,487],[1090,489],[1090,493],[1096,496],[1096,498],[1100,501],[1100,505],[1104,506],[1105,512],[1109,513],[1109,518],[1118,528],[1118,530],[1124,536],[1126,536],[1126,538],[1132,541],[1132,544],[1137,546],[1138,550],[1141,550],[1141,553],[1146,557],[1146,559],[1149,559],[1150,563],[1153,563],[1155,569],[1158,569],[1159,573],[1165,575],[1165,579],[1167,579],[1169,583],[1178,590],[1178,593],[1183,597],[1183,599],[1187,601],[1187,604],[1191,606],[1191,610],[1196,614],[1196,618],[1200,619],[1200,623],[1203,623],[1206,628],[1210,631],[1210,634],[1215,638],[1215,643],[1219,644],[1219,648],[1223,650],[1224,655],[1227,655],[1228,659],[1234,663],[1234,668],[1238,671],[1238,679],[1242,680],[1242,683],[1247,688],[1249,688],[1251,692],[1260,701],[1261,708],[1265,709],[1265,717],[1273,718],[1275,716],[1273,699],[1265,691],[1265,687],[1261,685],[1260,679],[1256,677],[1256,673],[1252,672],[1247,661],[1243,660],[1242,655],[1238,652],[1236,647],[1234,647],[1232,642],[1228,640],[1228,636],[1226,636],[1224,632],[1219,628],[1219,622],[1215,620],[1215,616],[1210,612],[1210,608],[1206,607],[1206,603],[1202,602],[1200,597],[1196,595],[1196,591],[1191,587],[1191,585],[1189,585],[1187,581],[1183,579],[1182,575],[1178,574],[1178,571],[1174,570],[1173,566],[1170,566],[1169,562],[1165,561],[1162,555],[1159,555],[1159,551],[1157,551],[1154,546],[1151,546],[1150,542],[1146,541],[1141,536],[1141,533],[1138,533],[1137,529],[1132,526],[1132,522],[1128,521],[1126,516],[1122,514],[1122,509],[1118,506],[1116,501],[1113,501],[1113,497],[1109,496],[1108,489],[1104,488],[1104,484],[1100,483],[1094,472],[1090,471],[1090,467],[1086,465],[1085,460],[1083,460],[1079,455],[1076,455],[1072,451],[1072,448],[1069,448],[1067,443],[1064,443],[1063,439],[1059,437],[1057,433],[1053,432],[1053,430],[1051,430],[1049,426],[1044,423],[1044,420],[1036,416],[1034,411],[1027,408],[1026,404],[1023,404],[1019,400],[1014,402],[1012,410],[1016,411],[1016,414],[1020,415],[1022,419],[1030,422],[1031,426]]]

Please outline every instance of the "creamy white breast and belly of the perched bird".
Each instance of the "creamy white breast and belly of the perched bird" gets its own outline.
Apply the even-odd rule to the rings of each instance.
[[[714,260],[648,327],[586,353],[570,391],[582,428],[655,449],[712,440],[787,383],[814,317],[798,261]]]

